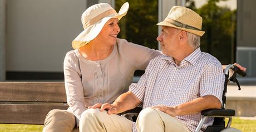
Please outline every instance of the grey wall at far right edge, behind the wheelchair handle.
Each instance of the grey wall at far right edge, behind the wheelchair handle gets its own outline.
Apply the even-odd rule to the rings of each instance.
[[[256,82],[256,1],[238,1],[237,11],[237,62],[247,67],[245,82]]]

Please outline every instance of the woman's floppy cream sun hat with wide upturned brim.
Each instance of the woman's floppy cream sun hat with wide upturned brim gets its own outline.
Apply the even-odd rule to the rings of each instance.
[[[122,5],[119,13],[116,13],[115,9],[107,3],[99,3],[87,8],[81,17],[84,31],[72,41],[73,49],[78,49],[89,43],[97,37],[109,19],[118,18],[120,20],[126,15],[128,9],[128,2]]]

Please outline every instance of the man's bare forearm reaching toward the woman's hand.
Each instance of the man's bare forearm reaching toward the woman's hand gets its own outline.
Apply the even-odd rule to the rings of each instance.
[[[141,101],[132,93],[126,92],[121,94],[112,105],[116,106],[117,113],[122,113],[126,110],[130,110],[139,105]]]

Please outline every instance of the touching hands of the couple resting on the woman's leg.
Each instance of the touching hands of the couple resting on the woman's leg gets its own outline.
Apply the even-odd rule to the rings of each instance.
[[[109,103],[105,103],[105,104],[97,103],[93,106],[88,106],[88,109],[96,109],[96,108],[100,108],[100,111],[106,110],[107,114],[109,114],[109,115],[117,114],[116,106],[109,104]]]

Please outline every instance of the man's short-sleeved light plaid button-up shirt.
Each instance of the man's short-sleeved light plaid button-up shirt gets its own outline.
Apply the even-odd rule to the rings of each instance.
[[[143,108],[164,105],[177,106],[204,95],[214,95],[222,103],[224,74],[218,59],[196,49],[176,65],[172,57],[160,55],[152,59],[138,83],[130,85],[129,90],[143,103]],[[176,116],[195,131],[202,115]],[[201,130],[213,123],[208,118]],[[134,127],[134,131],[135,127]]]

